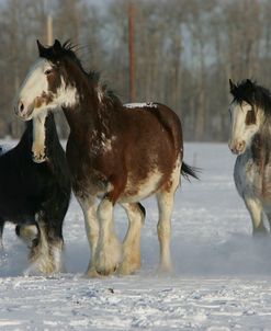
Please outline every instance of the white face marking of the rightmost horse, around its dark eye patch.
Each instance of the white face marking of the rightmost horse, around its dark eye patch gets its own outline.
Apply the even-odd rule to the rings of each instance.
[[[260,110],[256,110],[256,123],[246,124],[247,114],[251,111],[253,111],[252,106],[247,102],[241,102],[240,104],[235,101],[230,104],[232,128],[228,147],[234,153],[241,155],[259,129],[260,115],[262,113]]]

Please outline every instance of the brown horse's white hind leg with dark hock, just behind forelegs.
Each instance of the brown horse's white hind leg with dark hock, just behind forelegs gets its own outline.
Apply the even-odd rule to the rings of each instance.
[[[140,229],[145,208],[139,203],[122,204],[128,216],[128,230],[123,242],[123,262],[118,272],[129,275],[140,269]]]

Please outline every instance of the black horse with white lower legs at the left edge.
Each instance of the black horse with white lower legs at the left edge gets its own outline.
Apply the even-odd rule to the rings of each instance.
[[[25,225],[35,225],[31,269],[49,274],[61,269],[63,221],[71,184],[53,114],[44,118],[45,162],[33,161],[35,121],[39,119],[27,123],[20,142],[0,156],[0,237],[5,221],[18,225],[18,235]]]

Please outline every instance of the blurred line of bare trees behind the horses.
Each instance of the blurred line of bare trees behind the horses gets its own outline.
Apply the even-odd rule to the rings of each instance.
[[[97,1],[99,2],[99,1]],[[252,78],[271,88],[271,1],[134,0],[136,100],[158,101],[181,117],[185,140],[226,140],[228,79]],[[128,2],[5,0],[0,2],[0,137],[19,137],[23,124],[12,101],[46,44],[71,39],[84,67],[128,102]],[[58,117],[59,133],[67,125]]]

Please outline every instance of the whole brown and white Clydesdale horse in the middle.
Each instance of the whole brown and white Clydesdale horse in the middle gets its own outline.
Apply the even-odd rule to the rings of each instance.
[[[153,194],[159,207],[160,269],[169,271],[174,193],[181,173],[196,176],[182,162],[179,117],[159,103],[123,105],[95,72],[84,71],[69,43],[37,46],[39,59],[19,90],[15,113],[24,121],[48,110],[61,109],[66,115],[66,156],[91,249],[88,274],[131,274],[140,267],[145,209],[139,201]],[[36,161],[43,157],[36,150]],[[116,203],[129,220],[122,246],[114,231]]]

